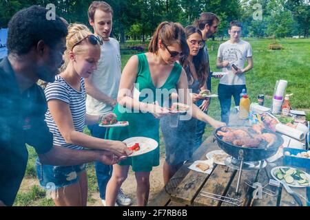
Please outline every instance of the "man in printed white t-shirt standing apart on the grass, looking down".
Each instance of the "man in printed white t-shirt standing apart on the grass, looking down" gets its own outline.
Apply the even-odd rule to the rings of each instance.
[[[216,67],[223,68],[223,72],[228,72],[220,79],[218,85],[220,117],[226,124],[229,124],[231,96],[234,96],[235,105],[239,106],[242,89],[247,91],[245,73],[253,68],[252,48],[249,43],[240,39],[241,32],[242,23],[231,21],[228,30],[230,40],[222,43],[218,48]],[[247,61],[247,67],[245,67],[245,61]]]

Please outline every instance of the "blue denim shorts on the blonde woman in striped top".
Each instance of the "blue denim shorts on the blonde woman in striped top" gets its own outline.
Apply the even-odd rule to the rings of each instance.
[[[85,164],[76,166],[52,166],[45,165],[36,159],[37,177],[40,186],[46,190],[57,190],[59,188],[76,184],[79,181],[79,173],[85,170]]]

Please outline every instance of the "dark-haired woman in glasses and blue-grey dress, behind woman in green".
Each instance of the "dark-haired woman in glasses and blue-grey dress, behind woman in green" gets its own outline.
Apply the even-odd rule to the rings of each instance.
[[[202,111],[207,109],[207,102],[201,95],[200,90],[207,89],[206,81],[208,77],[208,66],[205,63],[205,53],[202,48],[203,35],[198,28],[187,26],[185,28],[189,55],[180,57],[180,64],[183,66],[187,76],[189,89],[192,89],[192,102]],[[173,126],[172,116],[161,119],[161,129],[165,142],[165,164],[163,165],[164,183],[183,165],[183,163],[192,157],[196,150],[194,138],[196,133],[196,118],[190,120],[178,120],[178,125]],[[223,123],[211,121],[211,126],[218,127]]]

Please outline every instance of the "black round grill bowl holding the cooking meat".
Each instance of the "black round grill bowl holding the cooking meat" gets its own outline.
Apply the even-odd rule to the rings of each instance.
[[[222,126],[216,130],[214,130],[214,136],[216,137],[216,140],[218,141],[218,146],[225,151],[227,154],[231,155],[232,157],[238,159],[239,157],[239,151],[243,151],[243,160],[246,162],[256,162],[260,161],[262,159],[267,159],[269,157],[272,157],[275,155],[278,151],[278,148],[283,144],[283,139],[281,135],[278,133],[274,133],[273,131],[263,129],[263,133],[273,133],[276,135],[277,140],[274,142],[271,146],[268,148],[249,148],[249,147],[242,147],[242,146],[236,146],[234,144],[231,144],[229,142],[224,142],[222,140],[222,136],[216,135],[218,131],[220,131],[223,127]],[[229,126],[228,126],[229,127]],[[235,126],[234,126],[235,127]],[[245,127],[245,126],[243,126]],[[250,128],[250,127],[249,127]]]

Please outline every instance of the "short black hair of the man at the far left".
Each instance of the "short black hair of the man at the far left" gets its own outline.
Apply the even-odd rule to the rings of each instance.
[[[39,41],[54,47],[68,34],[65,23],[56,16],[48,20],[48,10],[37,5],[20,10],[8,23],[8,53],[27,54]]]

